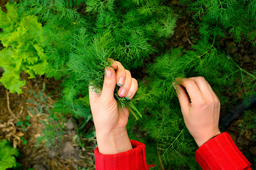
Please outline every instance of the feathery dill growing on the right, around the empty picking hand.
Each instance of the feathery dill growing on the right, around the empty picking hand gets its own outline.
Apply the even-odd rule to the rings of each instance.
[[[217,46],[219,39],[228,37],[239,43],[242,36],[255,46],[256,20],[251,13],[255,6],[253,1],[232,0],[182,0],[180,3],[189,5],[189,12],[194,11],[194,20],[199,25],[199,39],[190,50],[170,49],[156,56],[155,62],[147,67],[148,78],[138,89],[139,104],[147,116],[135,125],[128,125],[131,136],[134,127],[147,131],[151,139],[146,137],[147,146],[155,143],[155,149],[161,151],[159,157],[166,166],[198,169],[193,159],[197,147],[185,128],[172,83],[178,83],[177,77],[203,76],[219,96],[220,102],[228,105],[228,97],[222,96],[225,91],[243,93],[244,89],[242,98],[255,94],[255,71],[242,69]],[[242,83],[235,83],[237,79]]]

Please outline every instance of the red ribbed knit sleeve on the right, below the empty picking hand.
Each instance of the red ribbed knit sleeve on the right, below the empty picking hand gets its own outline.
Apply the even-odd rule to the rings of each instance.
[[[227,132],[200,146],[195,155],[203,170],[251,170],[250,162],[237,148]]]

